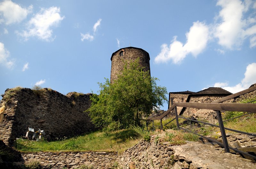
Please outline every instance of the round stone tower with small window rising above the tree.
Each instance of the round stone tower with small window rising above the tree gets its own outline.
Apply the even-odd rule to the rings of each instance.
[[[140,65],[144,67],[144,71],[149,71],[150,75],[150,65],[149,65],[149,54],[143,49],[137,47],[125,47],[117,50],[111,56],[111,74],[110,74],[110,82],[112,83],[116,80],[117,75],[122,72],[124,69],[124,61],[127,61],[128,64],[131,61],[140,58]]]

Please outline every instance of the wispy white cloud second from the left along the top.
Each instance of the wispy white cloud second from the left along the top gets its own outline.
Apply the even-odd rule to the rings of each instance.
[[[20,36],[28,40],[29,37],[38,37],[45,41],[53,41],[52,27],[59,25],[64,19],[60,16],[60,8],[50,7],[48,9],[42,8],[33,18],[28,22],[27,31],[17,32]]]

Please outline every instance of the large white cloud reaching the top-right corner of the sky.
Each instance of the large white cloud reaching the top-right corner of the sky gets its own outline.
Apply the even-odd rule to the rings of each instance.
[[[214,36],[219,39],[219,45],[239,50],[243,41],[249,37],[250,47],[254,47],[255,41],[251,35],[256,34],[256,25],[250,25],[256,22],[256,18],[244,18],[244,13],[253,6],[252,1],[219,0],[217,5],[222,8],[217,16],[221,21],[215,25],[214,31]]]

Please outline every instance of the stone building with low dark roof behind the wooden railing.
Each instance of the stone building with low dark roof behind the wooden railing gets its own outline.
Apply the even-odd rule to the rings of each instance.
[[[232,95],[232,93],[224,90],[223,88],[207,88],[199,92],[170,92],[169,93],[169,107],[172,106],[173,102],[201,102],[210,103],[214,100],[220,99]],[[227,102],[233,102],[234,99],[228,100]],[[182,108],[177,107],[178,114],[183,116],[194,116],[199,119],[205,119],[210,123],[216,123],[218,121],[217,114],[213,110],[206,109],[194,109],[194,108]]]

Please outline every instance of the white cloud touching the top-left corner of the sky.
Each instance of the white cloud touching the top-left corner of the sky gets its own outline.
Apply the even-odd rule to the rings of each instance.
[[[4,22],[6,25],[19,23],[27,18],[27,15],[32,12],[32,9],[33,5],[30,5],[26,9],[10,0],[5,0],[0,3],[0,23]]]

